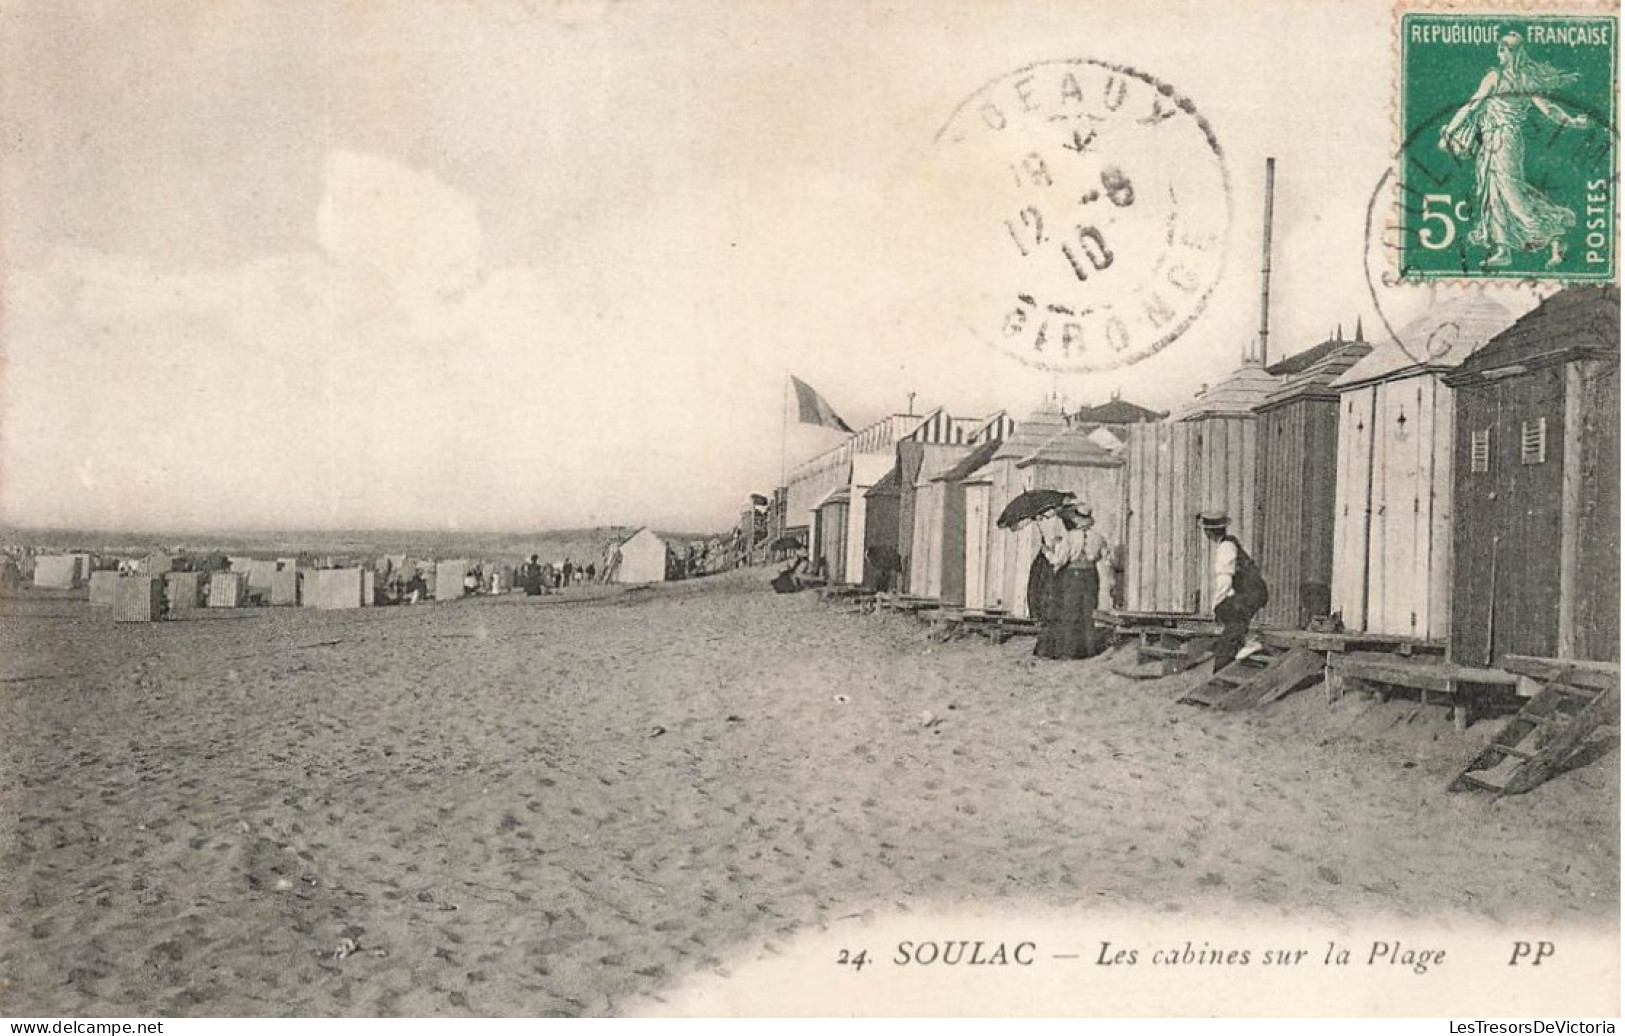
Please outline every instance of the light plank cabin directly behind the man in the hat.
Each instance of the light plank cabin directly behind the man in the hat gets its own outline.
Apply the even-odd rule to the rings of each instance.
[[[1128,429],[1128,526],[1123,599],[1131,612],[1212,611],[1202,510],[1258,550],[1258,416],[1279,378],[1254,359],[1204,388],[1168,421]]]

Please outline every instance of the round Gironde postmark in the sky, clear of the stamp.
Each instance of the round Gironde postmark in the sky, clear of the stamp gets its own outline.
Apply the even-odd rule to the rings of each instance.
[[[962,206],[959,317],[1051,372],[1110,370],[1183,335],[1224,273],[1230,179],[1167,83],[1092,58],[1027,65],[938,133]]]

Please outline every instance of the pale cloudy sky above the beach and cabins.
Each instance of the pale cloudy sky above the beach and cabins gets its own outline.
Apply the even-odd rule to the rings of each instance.
[[[1363,0],[6,3],[0,520],[725,529],[837,442],[790,373],[855,427],[1176,408],[1256,333],[1266,156],[1272,356],[1380,325],[1391,45]],[[936,135],[1058,58],[1173,84],[1232,190],[1206,310],[1103,373],[954,315]]]

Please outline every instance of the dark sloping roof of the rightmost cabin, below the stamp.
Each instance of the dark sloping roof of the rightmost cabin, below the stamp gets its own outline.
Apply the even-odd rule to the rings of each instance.
[[[1448,385],[1523,373],[1575,359],[1618,357],[1620,292],[1612,284],[1565,287],[1488,341],[1448,375]]]

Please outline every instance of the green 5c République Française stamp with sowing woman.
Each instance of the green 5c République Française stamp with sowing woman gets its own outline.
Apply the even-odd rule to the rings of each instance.
[[[1399,274],[1612,281],[1614,15],[1399,16]]]

